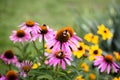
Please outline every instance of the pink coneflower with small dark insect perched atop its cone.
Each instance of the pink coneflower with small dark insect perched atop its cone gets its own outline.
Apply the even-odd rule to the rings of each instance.
[[[39,41],[41,42],[43,37],[45,41],[48,41],[49,39],[53,38],[54,31],[50,29],[46,24],[43,24],[39,27],[39,31],[37,33],[32,33],[32,40],[35,41],[39,37]]]

